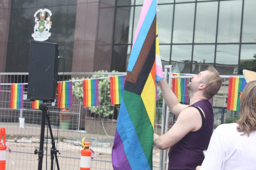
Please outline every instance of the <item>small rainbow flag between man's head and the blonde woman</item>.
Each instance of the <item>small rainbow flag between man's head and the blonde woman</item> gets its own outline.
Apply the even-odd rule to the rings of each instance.
[[[227,110],[240,111],[240,99],[238,92],[242,92],[246,84],[247,83],[244,78],[229,78]]]

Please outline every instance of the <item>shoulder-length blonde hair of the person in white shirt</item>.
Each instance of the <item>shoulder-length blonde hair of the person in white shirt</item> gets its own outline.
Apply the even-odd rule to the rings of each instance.
[[[249,136],[256,130],[256,81],[250,81],[240,97],[240,119],[237,121],[237,131]]]

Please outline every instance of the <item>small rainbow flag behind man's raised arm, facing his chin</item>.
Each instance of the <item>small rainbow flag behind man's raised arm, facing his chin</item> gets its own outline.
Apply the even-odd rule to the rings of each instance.
[[[172,74],[173,76],[182,76],[185,74]],[[179,99],[179,102],[188,103],[188,79],[172,78],[172,91]]]

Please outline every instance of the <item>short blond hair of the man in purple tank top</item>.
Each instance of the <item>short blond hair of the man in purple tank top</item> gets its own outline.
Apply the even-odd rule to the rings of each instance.
[[[211,75],[207,75],[203,78],[203,83],[206,84],[203,95],[207,99],[211,99],[216,93],[218,93],[222,80],[219,72],[212,66],[209,66],[206,71],[210,71]]]

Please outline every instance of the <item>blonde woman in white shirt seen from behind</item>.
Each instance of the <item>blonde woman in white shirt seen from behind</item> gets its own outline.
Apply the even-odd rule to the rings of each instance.
[[[196,170],[256,170],[255,79],[240,96],[240,119],[214,130],[204,161]]]

